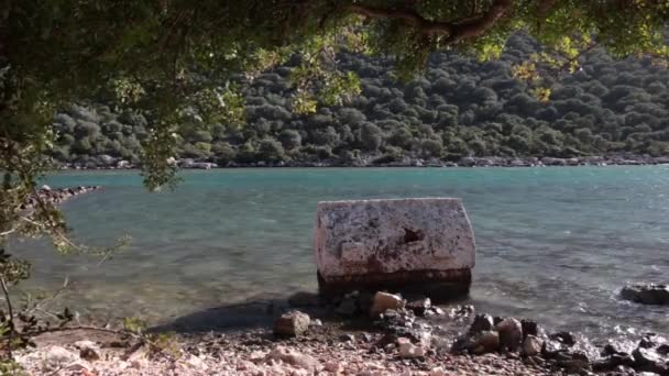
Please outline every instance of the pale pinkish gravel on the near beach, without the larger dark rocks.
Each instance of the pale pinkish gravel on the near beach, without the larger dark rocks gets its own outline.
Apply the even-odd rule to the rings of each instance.
[[[552,375],[525,364],[517,354],[453,355],[430,349],[425,356],[405,358],[397,347],[379,347],[382,334],[328,339],[317,333],[277,340],[266,331],[243,334],[206,333],[179,336],[178,357],[132,353],[114,339],[89,338],[90,332],[51,335],[35,350],[17,356],[31,375]],[[78,340],[78,341],[75,341]],[[63,341],[69,341],[64,343]],[[74,341],[74,342],[73,342]],[[91,355],[95,354],[95,355]]]

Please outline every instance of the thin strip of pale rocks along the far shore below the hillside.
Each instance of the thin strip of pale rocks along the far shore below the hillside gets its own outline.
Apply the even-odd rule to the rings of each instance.
[[[669,164],[669,156],[652,157],[649,155],[613,155],[584,156],[571,158],[556,157],[462,157],[458,161],[437,158],[423,159],[404,157],[401,161],[386,161],[382,156],[365,156],[354,162],[340,159],[292,161],[292,162],[228,162],[218,164],[209,161],[175,159],[180,168],[252,168],[252,167],[545,167],[545,166],[645,166]],[[139,165],[128,161],[111,159],[106,165],[62,164],[61,169],[135,169]]]

